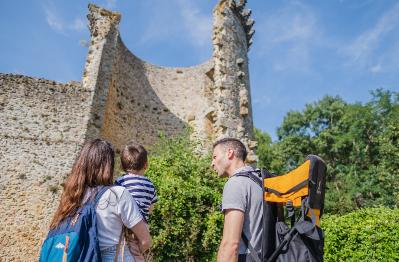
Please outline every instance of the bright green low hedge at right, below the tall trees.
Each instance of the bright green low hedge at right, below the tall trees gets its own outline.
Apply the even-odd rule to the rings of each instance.
[[[320,220],[325,262],[399,261],[399,209],[366,208]]]

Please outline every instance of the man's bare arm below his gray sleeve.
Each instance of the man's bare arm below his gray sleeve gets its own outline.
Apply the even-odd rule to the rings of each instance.
[[[244,224],[244,212],[238,209],[226,209],[223,238],[217,252],[217,262],[237,262],[241,231]]]

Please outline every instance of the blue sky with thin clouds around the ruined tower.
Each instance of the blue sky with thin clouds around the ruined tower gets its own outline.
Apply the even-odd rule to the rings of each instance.
[[[93,0],[122,14],[120,36],[144,61],[194,66],[211,58],[217,0]],[[255,19],[248,53],[255,126],[276,139],[289,110],[326,94],[367,102],[399,90],[399,1],[248,0]],[[81,81],[87,2],[0,2],[0,72]]]

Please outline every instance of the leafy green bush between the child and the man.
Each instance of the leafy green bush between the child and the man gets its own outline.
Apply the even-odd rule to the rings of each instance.
[[[211,156],[201,152],[201,140],[188,128],[182,137],[160,143],[148,159],[147,176],[159,201],[150,220],[154,257],[157,261],[215,261],[222,237],[221,203],[226,179],[217,177]]]

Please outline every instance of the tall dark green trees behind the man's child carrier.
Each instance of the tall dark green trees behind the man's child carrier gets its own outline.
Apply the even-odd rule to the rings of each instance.
[[[371,94],[373,99],[364,105],[324,96],[302,112],[288,112],[277,128],[279,141],[268,148],[269,156],[263,149],[257,154],[277,174],[295,169],[308,154],[324,159],[330,188],[327,213],[398,205],[399,95],[381,89]],[[261,144],[267,134],[259,134],[255,139]]]

